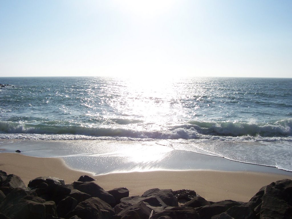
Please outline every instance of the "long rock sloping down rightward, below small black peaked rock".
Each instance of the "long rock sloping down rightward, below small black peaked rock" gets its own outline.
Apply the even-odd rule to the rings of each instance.
[[[74,182],[73,183],[74,189],[77,189],[81,192],[87,193],[93,197],[98,197],[101,200],[105,201],[106,203],[110,204],[111,206],[114,206],[116,203],[116,200],[114,197],[106,192],[102,187],[97,185],[93,182]]]

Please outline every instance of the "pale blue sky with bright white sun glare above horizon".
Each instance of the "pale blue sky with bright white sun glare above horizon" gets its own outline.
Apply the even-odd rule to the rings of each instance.
[[[291,0],[0,0],[0,77],[292,77]]]

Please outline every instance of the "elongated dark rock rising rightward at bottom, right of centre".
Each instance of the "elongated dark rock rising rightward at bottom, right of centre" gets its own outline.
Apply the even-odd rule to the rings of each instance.
[[[210,219],[214,215],[221,214],[227,211],[229,208],[241,204],[243,203],[232,200],[217,201],[214,204],[202,207],[198,210],[198,213],[202,219]]]

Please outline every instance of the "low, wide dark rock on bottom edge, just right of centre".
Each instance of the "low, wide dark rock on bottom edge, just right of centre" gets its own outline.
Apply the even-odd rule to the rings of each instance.
[[[158,218],[172,218],[172,219],[199,219],[200,216],[194,208],[190,207],[173,207],[171,209],[158,212],[154,214],[150,219],[158,219]]]

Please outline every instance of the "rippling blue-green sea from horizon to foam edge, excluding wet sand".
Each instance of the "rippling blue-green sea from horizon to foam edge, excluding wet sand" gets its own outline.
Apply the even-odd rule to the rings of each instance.
[[[0,80],[16,87],[0,89],[2,139],[165,140],[292,170],[292,79]]]

